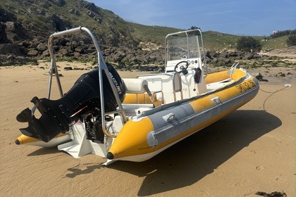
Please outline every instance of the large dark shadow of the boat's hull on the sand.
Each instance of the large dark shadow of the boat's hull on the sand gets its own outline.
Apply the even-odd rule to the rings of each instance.
[[[236,110],[150,160],[118,161],[108,167],[145,177],[138,196],[171,191],[198,182],[281,124],[278,117],[263,110]]]

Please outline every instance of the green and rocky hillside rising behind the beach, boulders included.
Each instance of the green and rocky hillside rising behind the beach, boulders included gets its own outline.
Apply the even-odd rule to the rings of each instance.
[[[83,0],[2,0],[0,22],[0,43],[18,45],[13,46],[16,47],[15,51],[20,51],[16,55],[23,53],[23,56],[30,54],[35,58],[47,58],[49,55],[45,46],[50,34],[83,26],[97,36],[107,60],[123,64],[163,63],[166,34],[182,31],[173,27],[130,23],[112,11]],[[203,32],[203,36],[206,51],[235,51],[240,38],[213,31]],[[92,59],[90,38],[83,35],[72,37],[80,42],[76,42],[74,46],[66,46],[72,40],[70,38],[64,42],[56,42],[56,51],[63,49],[64,52],[59,53],[58,57],[67,56],[66,53],[73,57],[76,53],[76,59]],[[264,51],[270,51],[285,48],[288,36],[276,39],[268,37],[266,41],[264,37],[255,38],[260,41]],[[43,46],[37,47],[39,44]],[[80,49],[76,49],[77,47]]]

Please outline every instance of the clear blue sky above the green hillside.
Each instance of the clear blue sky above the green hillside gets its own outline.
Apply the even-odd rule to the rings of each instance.
[[[296,0],[87,0],[123,20],[187,30],[269,35],[296,29]]]

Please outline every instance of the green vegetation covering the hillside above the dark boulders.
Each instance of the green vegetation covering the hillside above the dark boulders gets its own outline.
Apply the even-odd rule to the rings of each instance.
[[[65,0],[63,6],[57,6],[54,1],[11,1],[4,0],[0,4],[0,13],[6,11],[16,18],[16,21],[23,25],[26,30],[40,32],[44,36],[49,36],[56,31],[64,30],[65,27],[84,26],[92,30],[97,36],[100,44],[110,46],[106,42],[111,38],[111,44],[125,42],[132,47],[145,48],[149,44],[152,46],[164,47],[166,34],[181,31],[173,27],[159,27],[130,23],[112,11],[97,7],[97,13],[93,9],[87,8],[91,3],[80,0]],[[49,6],[44,6],[48,4]],[[74,14],[75,10],[78,14]],[[53,18],[58,18],[58,22],[63,23],[63,28],[58,29],[58,23]],[[192,24],[190,29],[199,28]],[[257,46],[261,45],[262,50],[283,49],[287,46],[295,46],[296,30],[285,30],[276,32],[270,37],[252,37],[252,42],[256,40]],[[37,34],[31,34],[37,35]],[[242,37],[221,32],[203,32],[206,51],[235,51]],[[253,40],[254,39],[254,40]],[[254,44],[254,43],[253,43]],[[239,47],[240,48],[240,47]],[[259,48],[255,48],[258,50]]]

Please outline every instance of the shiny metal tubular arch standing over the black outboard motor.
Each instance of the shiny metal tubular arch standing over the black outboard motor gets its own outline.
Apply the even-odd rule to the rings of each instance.
[[[97,58],[98,58],[97,66],[98,66],[98,69],[99,69],[99,92],[100,92],[100,98],[101,98],[101,112],[102,112],[101,113],[101,125],[102,125],[103,132],[104,132],[104,134],[106,136],[111,137],[111,138],[116,138],[115,135],[109,134],[106,131],[106,127],[105,127],[106,126],[105,125],[105,115],[108,114],[108,113],[105,113],[105,108],[104,108],[104,91],[103,91],[103,74],[102,74],[102,71],[105,72],[106,77],[108,79],[108,82],[109,82],[109,84],[111,86],[111,89],[113,91],[113,94],[114,94],[114,96],[116,98],[116,103],[117,103],[118,108],[119,108],[119,110],[116,110],[116,112],[121,114],[123,124],[125,124],[125,122],[128,121],[128,118],[126,117],[125,112],[123,110],[123,106],[121,104],[121,99],[118,96],[118,91],[117,91],[115,85],[113,84],[113,81],[112,81],[112,79],[111,79],[111,77],[109,75],[109,70],[108,70],[108,68],[106,66],[104,56],[101,53],[101,49],[100,49],[99,44],[97,42],[97,38],[86,27],[75,27],[75,28],[72,28],[72,29],[69,29],[69,30],[64,30],[62,32],[55,32],[54,34],[50,35],[49,40],[48,40],[48,47],[49,47],[49,54],[51,56],[51,72],[50,72],[50,75],[49,75],[49,89],[48,89],[47,98],[48,99],[50,98],[52,76],[53,76],[54,73],[56,75],[56,81],[58,83],[58,90],[60,92],[60,95],[63,96],[61,81],[60,81],[59,76],[58,76],[58,69],[56,68],[56,61],[55,61],[55,58],[54,58],[54,51],[52,49],[52,43],[51,43],[52,39],[57,38],[57,37],[63,37],[64,35],[68,35],[68,34],[74,34],[74,33],[77,33],[77,32],[87,32],[87,34],[89,34],[90,37],[92,38],[92,42],[93,42],[94,46],[96,47]],[[53,72],[53,70],[54,70],[54,72]]]

